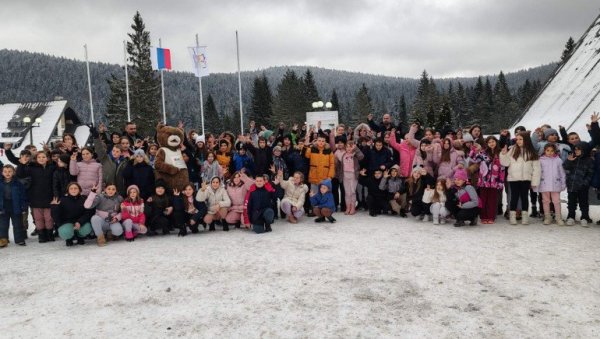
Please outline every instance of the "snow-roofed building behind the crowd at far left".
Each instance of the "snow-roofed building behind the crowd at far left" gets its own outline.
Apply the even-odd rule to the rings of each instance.
[[[13,144],[16,154],[33,142],[42,143],[61,140],[64,133],[75,135],[80,146],[89,138],[89,128],[82,125],[77,113],[67,100],[0,104],[0,160],[9,163],[4,155],[4,144]]]

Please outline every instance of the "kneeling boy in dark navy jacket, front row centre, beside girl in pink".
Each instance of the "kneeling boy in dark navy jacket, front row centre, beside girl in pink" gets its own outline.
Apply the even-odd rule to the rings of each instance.
[[[248,217],[252,230],[256,233],[271,232],[271,224],[275,218],[273,200],[275,192],[270,192],[265,187],[265,178],[257,176],[254,180],[255,189],[248,197]]]

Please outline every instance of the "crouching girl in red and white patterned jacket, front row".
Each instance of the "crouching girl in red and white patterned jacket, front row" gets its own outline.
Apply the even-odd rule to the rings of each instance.
[[[146,234],[146,215],[144,200],[140,197],[140,189],[136,185],[127,188],[127,198],[121,204],[121,217],[125,228],[125,240],[133,241],[138,234]]]

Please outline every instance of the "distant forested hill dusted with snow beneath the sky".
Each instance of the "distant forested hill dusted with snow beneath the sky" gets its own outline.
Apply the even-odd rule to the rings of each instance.
[[[62,96],[69,100],[83,120],[89,116],[89,100],[85,62],[41,53],[15,50],[0,50],[0,103],[51,100]],[[514,93],[525,80],[545,82],[556,68],[556,63],[505,73],[510,90]],[[302,76],[307,68],[314,75],[319,93],[324,101],[329,100],[333,89],[337,91],[341,107],[352,109],[354,96],[362,83],[369,89],[377,113],[395,110],[402,94],[407,102],[413,102],[418,79],[422,70],[415,70],[415,78],[389,77],[332,70],[312,66],[278,66],[264,70],[242,72],[242,99],[244,110],[251,101],[252,82],[263,72],[267,75],[271,89],[275,92],[287,69]],[[498,70],[500,71],[500,70]],[[106,79],[110,74],[124,77],[122,66],[106,63],[90,63],[94,111],[101,116],[106,111],[109,87]],[[435,75],[434,75],[435,76]],[[485,78],[485,76],[483,76]],[[496,75],[489,75],[492,83]],[[438,89],[445,90],[450,82],[460,81],[473,86],[477,77],[435,79]],[[220,114],[233,115],[238,103],[237,74],[215,73],[202,79],[204,98],[212,94]],[[169,119],[176,121],[186,116],[199,105],[198,80],[192,73],[165,73],[165,97]]]

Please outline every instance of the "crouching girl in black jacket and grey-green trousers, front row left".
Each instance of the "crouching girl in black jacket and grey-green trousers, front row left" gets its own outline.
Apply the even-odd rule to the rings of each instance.
[[[52,199],[52,219],[58,225],[58,235],[66,241],[67,246],[85,244],[84,238],[92,233],[90,219],[93,210],[85,208],[85,198],[81,195],[81,186],[72,182],[67,186],[67,194],[58,200]]]

